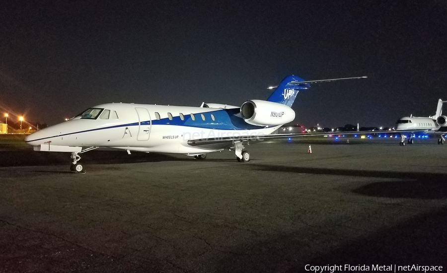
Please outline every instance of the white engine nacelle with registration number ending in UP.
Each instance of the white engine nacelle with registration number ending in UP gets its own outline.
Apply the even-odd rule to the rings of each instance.
[[[254,125],[276,126],[295,119],[295,111],[281,103],[265,100],[248,100],[242,103],[240,115]]]

